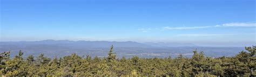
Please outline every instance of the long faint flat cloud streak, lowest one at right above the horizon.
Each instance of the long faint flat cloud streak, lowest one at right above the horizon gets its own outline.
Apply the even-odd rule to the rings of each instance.
[[[180,34],[177,36],[223,36],[223,35],[256,35],[256,34]]]

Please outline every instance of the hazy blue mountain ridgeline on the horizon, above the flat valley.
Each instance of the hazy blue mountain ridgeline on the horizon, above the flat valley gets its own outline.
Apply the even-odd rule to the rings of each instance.
[[[58,45],[72,48],[107,48],[110,45],[114,47],[196,47],[192,43],[138,43],[132,41],[110,42],[110,41],[69,41],[69,40],[43,40],[43,41],[19,41],[19,42],[0,42],[0,45]]]

